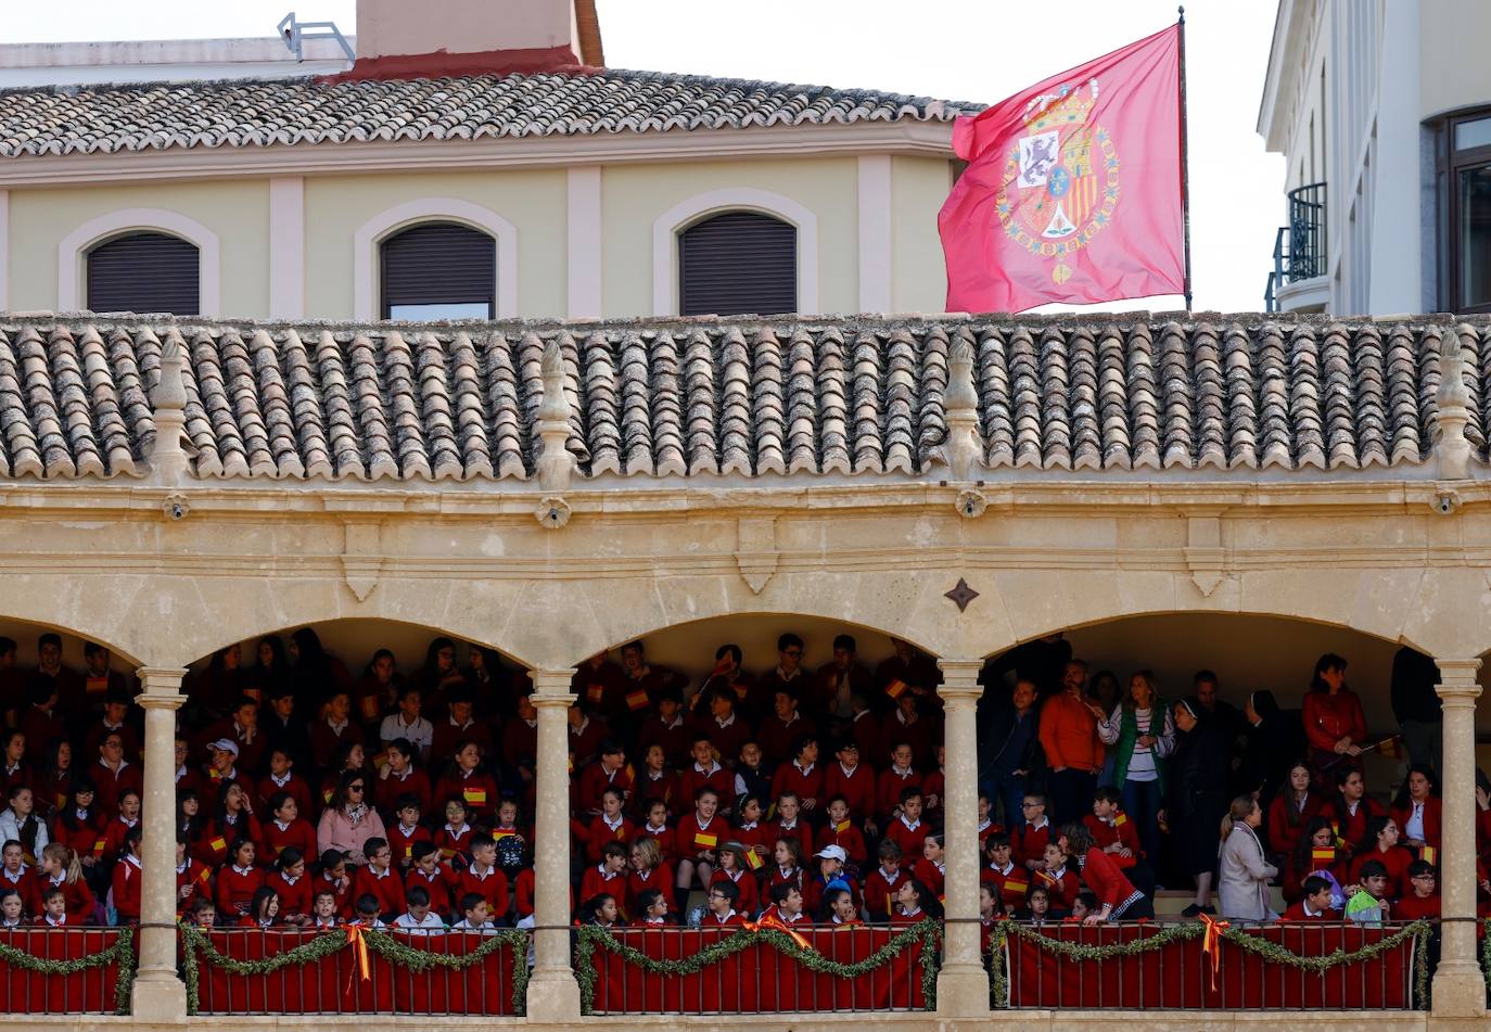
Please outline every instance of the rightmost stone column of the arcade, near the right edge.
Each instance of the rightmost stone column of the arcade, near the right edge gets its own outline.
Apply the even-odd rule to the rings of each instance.
[[[1476,685],[1479,659],[1437,659],[1445,711],[1445,805],[1439,849],[1442,946],[1434,972],[1434,1014],[1485,1014],[1487,984],[1476,959]]]

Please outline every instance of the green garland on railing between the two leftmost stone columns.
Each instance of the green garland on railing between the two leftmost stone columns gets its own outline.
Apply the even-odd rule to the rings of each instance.
[[[182,971],[186,981],[186,1013],[195,1014],[201,1005],[200,995],[200,962],[222,968],[228,974],[234,975],[267,975],[280,968],[289,965],[307,965],[316,963],[330,957],[332,953],[344,950],[350,946],[347,940],[346,929],[337,929],[334,932],[327,932],[325,935],[318,935],[309,943],[301,943],[292,950],[279,953],[271,957],[261,957],[258,960],[236,960],[233,957],[224,956],[195,925],[183,923],[182,929]],[[289,929],[286,929],[289,931]],[[416,950],[407,943],[401,943],[397,937],[379,929],[367,929],[362,932],[362,941],[367,943],[368,951],[376,953],[389,963],[410,971],[423,972],[434,968],[444,968],[447,971],[465,971],[486,957],[497,953],[504,946],[513,947],[513,1013],[523,1014],[525,1002],[528,999],[528,932],[520,928],[504,928],[497,932],[489,932],[483,935],[482,946],[465,953],[462,956],[447,956],[444,953],[429,953],[425,950]],[[200,957],[200,960],[198,960]]]

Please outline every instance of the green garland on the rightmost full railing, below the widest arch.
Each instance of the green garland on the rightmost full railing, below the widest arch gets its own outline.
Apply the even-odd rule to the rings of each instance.
[[[1491,922],[1488,922],[1491,925]],[[1290,968],[1300,971],[1311,971],[1314,974],[1325,974],[1331,968],[1339,968],[1345,963],[1354,963],[1357,960],[1375,960],[1388,950],[1397,948],[1408,940],[1415,941],[1413,947],[1413,1007],[1415,1010],[1424,1010],[1428,1001],[1428,937],[1433,926],[1427,920],[1416,920],[1412,925],[1405,925],[1399,931],[1387,935],[1370,946],[1364,946],[1360,950],[1346,950],[1337,947],[1330,953],[1318,957],[1302,957],[1296,953],[1290,953],[1278,943],[1270,943],[1258,935],[1252,935],[1238,928],[1223,929],[1221,938],[1232,943],[1239,950],[1251,953],[1269,963],[1282,963]],[[1020,925],[1012,920],[1000,920],[994,926],[993,938],[989,946],[989,968],[993,981],[994,1007],[1005,1010],[1009,1007],[1009,986],[1005,980],[1005,965],[999,962],[1000,954],[1005,950],[1005,944],[1009,937],[1015,935],[1029,943],[1039,943],[1041,948],[1050,950],[1051,953],[1063,957],[1066,960],[1088,960],[1088,962],[1103,962],[1114,957],[1130,957],[1139,953],[1150,953],[1153,950],[1164,948],[1172,943],[1184,943],[1194,938],[1202,938],[1206,935],[1206,925],[1203,922],[1187,922],[1184,925],[1172,925],[1169,928],[1161,928],[1157,935],[1150,935],[1142,940],[1133,940],[1130,943],[1111,943],[1108,946],[1087,946],[1085,943],[1066,943],[1062,940],[1054,940],[1050,935],[1032,928],[1029,925]],[[1487,959],[1488,978],[1491,978],[1491,954]]]

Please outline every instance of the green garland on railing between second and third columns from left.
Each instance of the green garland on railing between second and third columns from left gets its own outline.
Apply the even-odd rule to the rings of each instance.
[[[622,957],[626,963],[632,963],[653,975],[677,977],[698,974],[704,968],[719,963],[720,960],[741,953],[743,950],[748,950],[753,946],[769,946],[777,950],[777,953],[796,960],[804,968],[816,974],[833,975],[835,978],[859,978],[860,975],[866,975],[871,971],[884,966],[895,957],[905,953],[912,944],[920,943],[921,995],[926,1001],[926,1010],[936,1010],[936,972],[939,966],[938,948],[941,926],[935,920],[923,920],[917,925],[911,925],[905,931],[893,935],[890,941],[871,953],[868,957],[863,960],[854,960],[853,963],[829,960],[816,950],[804,950],[792,941],[790,935],[774,928],[754,931],[743,928],[734,935],[717,943],[711,943],[683,960],[658,960],[650,957],[641,950],[626,946],[611,935],[610,929],[598,925],[581,925],[576,931],[579,932],[579,944],[576,948],[574,974],[576,980],[580,983],[581,1014],[592,1014],[595,1011],[595,947],[598,946]]]

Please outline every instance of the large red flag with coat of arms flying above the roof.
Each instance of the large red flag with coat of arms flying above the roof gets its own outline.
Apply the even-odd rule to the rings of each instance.
[[[948,312],[1185,289],[1181,27],[953,127],[969,166],[938,213]]]

